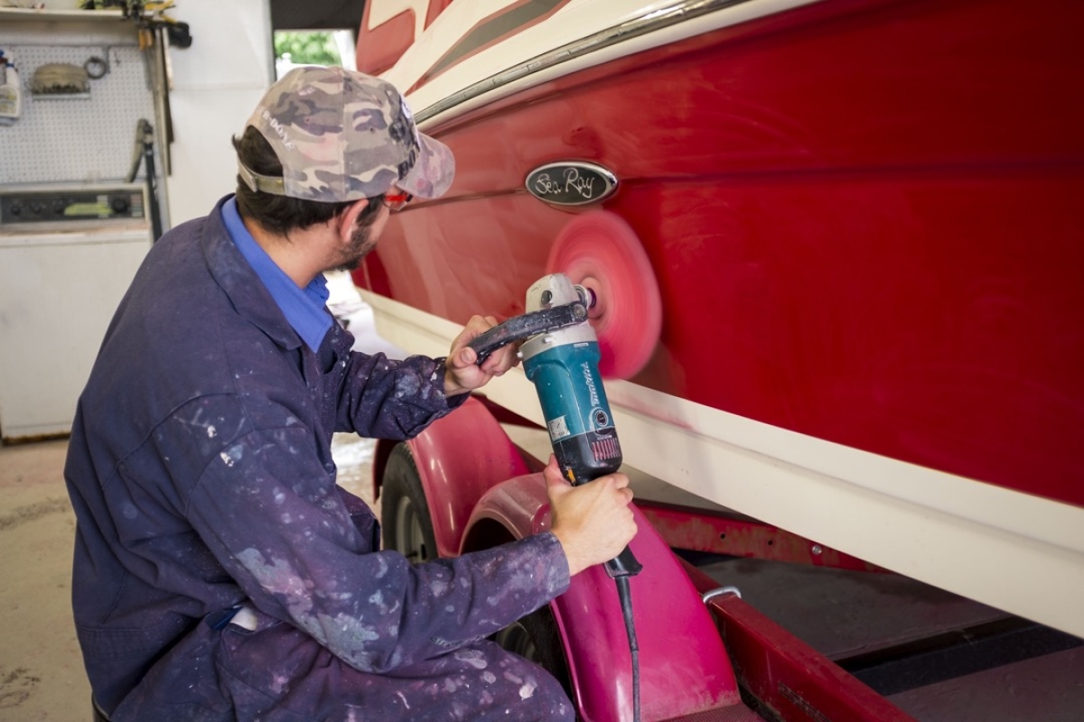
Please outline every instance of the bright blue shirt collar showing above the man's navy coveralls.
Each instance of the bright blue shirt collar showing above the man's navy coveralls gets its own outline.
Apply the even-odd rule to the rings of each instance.
[[[332,327],[332,317],[325,309],[331,296],[327,279],[320,274],[304,289],[298,288],[248,233],[237,212],[236,198],[230,198],[222,206],[222,221],[230,238],[263,281],[286,320],[309,349],[313,352],[319,350]]]

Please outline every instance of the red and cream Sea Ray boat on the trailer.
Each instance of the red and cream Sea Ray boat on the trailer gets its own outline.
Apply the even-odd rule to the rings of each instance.
[[[712,10],[640,42],[657,13],[632,3],[434,3],[387,77],[456,178],[354,274],[374,305],[423,326],[516,315],[601,206],[663,305],[647,367],[607,388],[629,465],[1084,633],[1084,5],[674,0]],[[366,27],[395,62],[382,32],[406,26]],[[543,202],[525,181],[556,161],[617,192]],[[440,336],[402,345],[439,354]],[[532,390],[492,386],[537,413]]]

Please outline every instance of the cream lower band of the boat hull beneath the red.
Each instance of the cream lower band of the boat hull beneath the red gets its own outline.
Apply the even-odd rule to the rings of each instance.
[[[461,327],[361,290],[382,337],[442,356]],[[606,384],[625,463],[873,564],[1084,636],[1084,509],[869,454],[627,381]],[[486,386],[543,423],[516,369]]]

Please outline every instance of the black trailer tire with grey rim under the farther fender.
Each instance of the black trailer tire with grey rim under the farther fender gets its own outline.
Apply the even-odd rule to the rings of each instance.
[[[384,468],[380,523],[385,549],[398,551],[412,564],[437,559],[429,503],[414,455],[405,444],[396,445]]]

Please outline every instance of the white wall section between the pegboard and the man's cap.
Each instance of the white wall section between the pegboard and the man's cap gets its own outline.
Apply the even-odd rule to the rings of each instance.
[[[230,139],[274,80],[269,0],[184,0],[168,13],[188,23],[192,47],[169,49],[173,89],[170,221],[206,215],[236,187]]]

